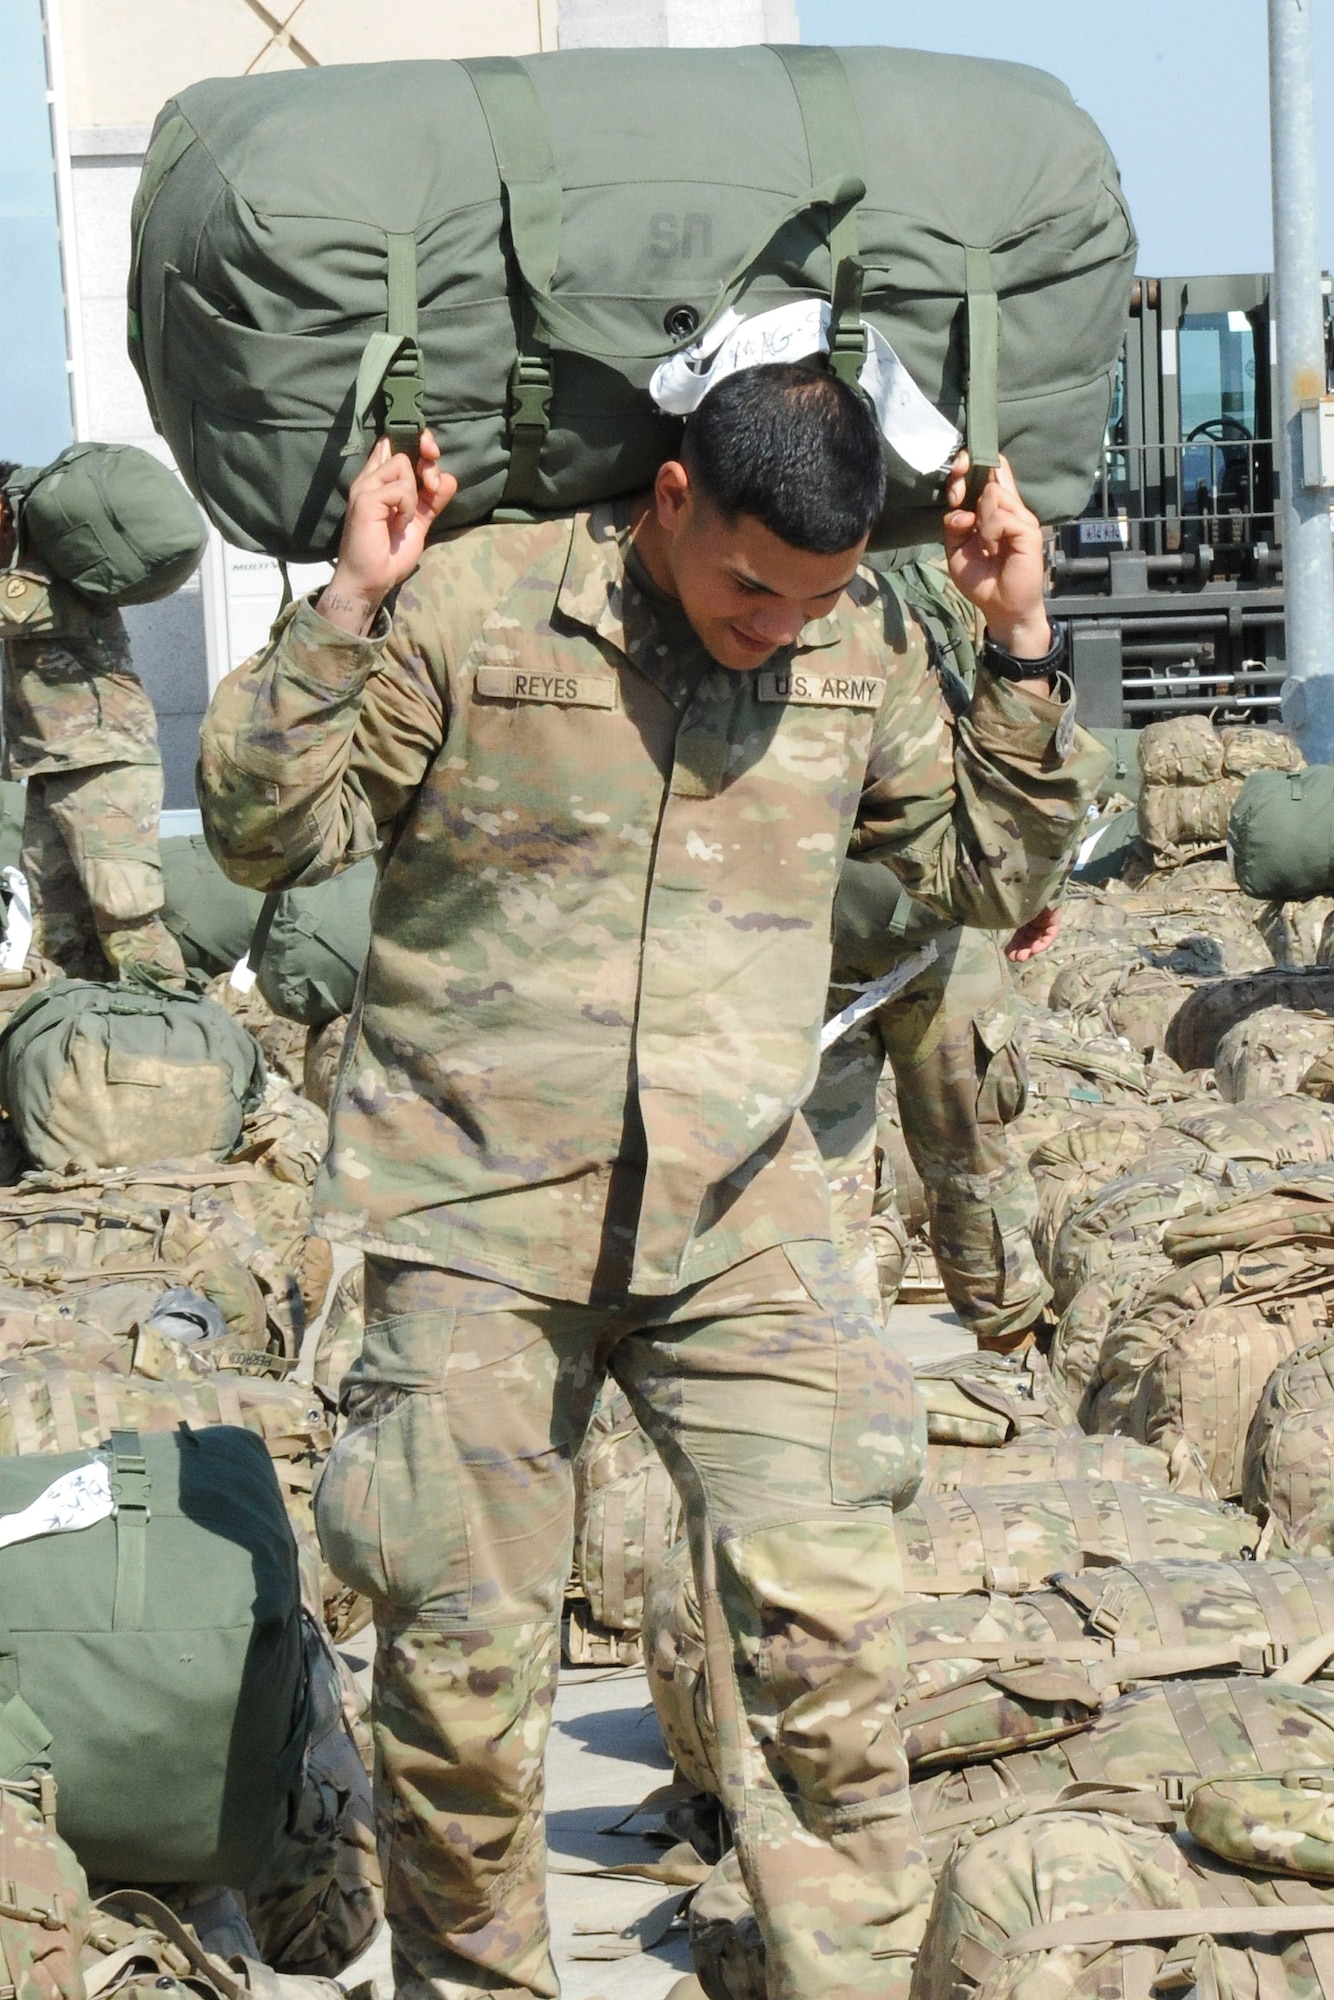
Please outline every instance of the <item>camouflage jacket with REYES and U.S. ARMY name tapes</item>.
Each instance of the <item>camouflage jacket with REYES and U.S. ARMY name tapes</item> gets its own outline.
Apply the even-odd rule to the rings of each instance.
[[[324,1226],[570,1300],[828,1236],[798,1108],[848,842],[1018,924],[1102,770],[990,676],[956,730],[870,572],[736,674],[626,548],[624,506],[472,528],[366,640],[296,604],[202,734],[234,880],[380,850]]]

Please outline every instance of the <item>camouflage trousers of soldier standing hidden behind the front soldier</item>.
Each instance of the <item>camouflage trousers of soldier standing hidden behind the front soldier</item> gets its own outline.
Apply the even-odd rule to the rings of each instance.
[[[1028,1090],[1016,1002],[994,932],[954,928],[934,942],[936,962],[826,1050],[804,1114],[830,1180],[834,1240],[870,1306],[876,1086],[888,1056],[946,1296],[980,1346],[1004,1348],[1050,1298],[1030,1236],[1032,1180],[1006,1138]],[[830,1010],[850,998],[834,988]]]

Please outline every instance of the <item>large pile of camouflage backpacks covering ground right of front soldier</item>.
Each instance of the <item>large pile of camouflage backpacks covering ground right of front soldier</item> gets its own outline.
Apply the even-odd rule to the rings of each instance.
[[[914,2000],[1334,1996],[1334,906],[1248,896],[1226,850],[1248,774],[1298,766],[1276,732],[1146,730],[1120,874],[1076,880],[1018,974],[1050,1360],[918,1370],[928,1468],[894,1526],[936,1876]],[[678,1790],[712,1796],[684,1544],[646,1572]],[[690,1930],[710,2000],[762,2000],[734,1854]]]

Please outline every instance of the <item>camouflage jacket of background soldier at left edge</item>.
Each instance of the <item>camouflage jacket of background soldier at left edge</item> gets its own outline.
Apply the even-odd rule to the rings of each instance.
[[[4,776],[158,764],[152,704],[130,666],[130,634],[38,568],[0,576]]]

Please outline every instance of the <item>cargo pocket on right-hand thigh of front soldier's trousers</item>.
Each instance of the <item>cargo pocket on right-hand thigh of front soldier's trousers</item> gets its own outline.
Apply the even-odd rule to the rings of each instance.
[[[830,1496],[836,1506],[908,1506],[926,1470],[926,1412],[912,1370],[860,1306],[832,1244],[784,1250],[830,1326]]]

